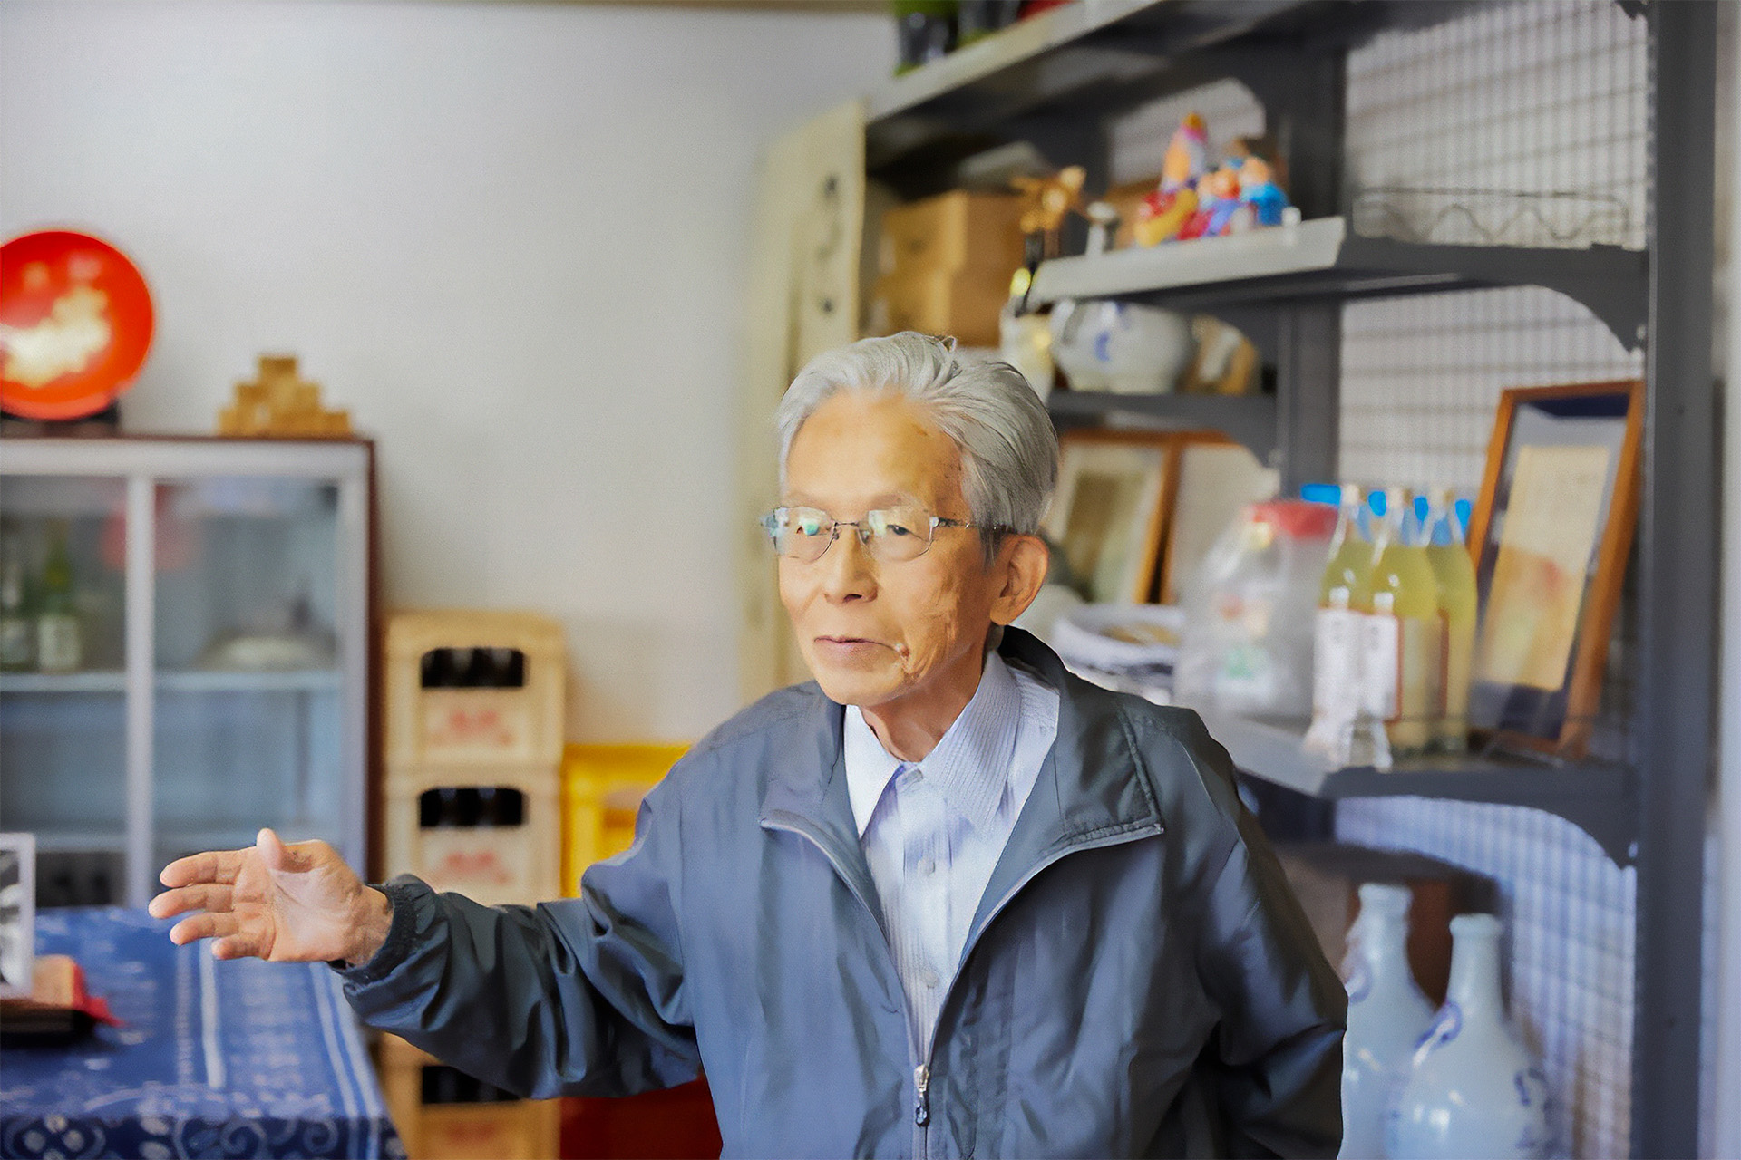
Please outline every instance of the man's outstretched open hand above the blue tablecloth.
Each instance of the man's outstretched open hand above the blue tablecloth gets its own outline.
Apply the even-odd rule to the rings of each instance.
[[[362,963],[387,941],[392,906],[326,842],[286,845],[261,830],[242,850],[178,857],[158,880],[153,918],[193,913],[169,937],[216,939],[212,957]]]

